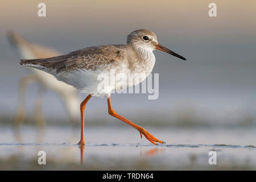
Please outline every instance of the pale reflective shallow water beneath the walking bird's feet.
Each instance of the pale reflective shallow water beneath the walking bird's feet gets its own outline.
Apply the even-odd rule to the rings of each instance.
[[[147,128],[166,144],[154,146],[129,126],[23,126],[0,129],[0,169],[256,169],[256,129]],[[46,151],[46,165],[38,151]],[[217,164],[210,165],[209,151]],[[80,164],[82,163],[82,164]]]

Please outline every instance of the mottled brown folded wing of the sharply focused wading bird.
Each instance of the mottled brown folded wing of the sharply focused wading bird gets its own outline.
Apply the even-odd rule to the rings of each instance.
[[[97,46],[80,49],[62,56],[45,59],[20,60],[21,65],[56,70],[57,74],[76,69],[95,70],[109,67],[116,61],[122,60],[126,46]]]

